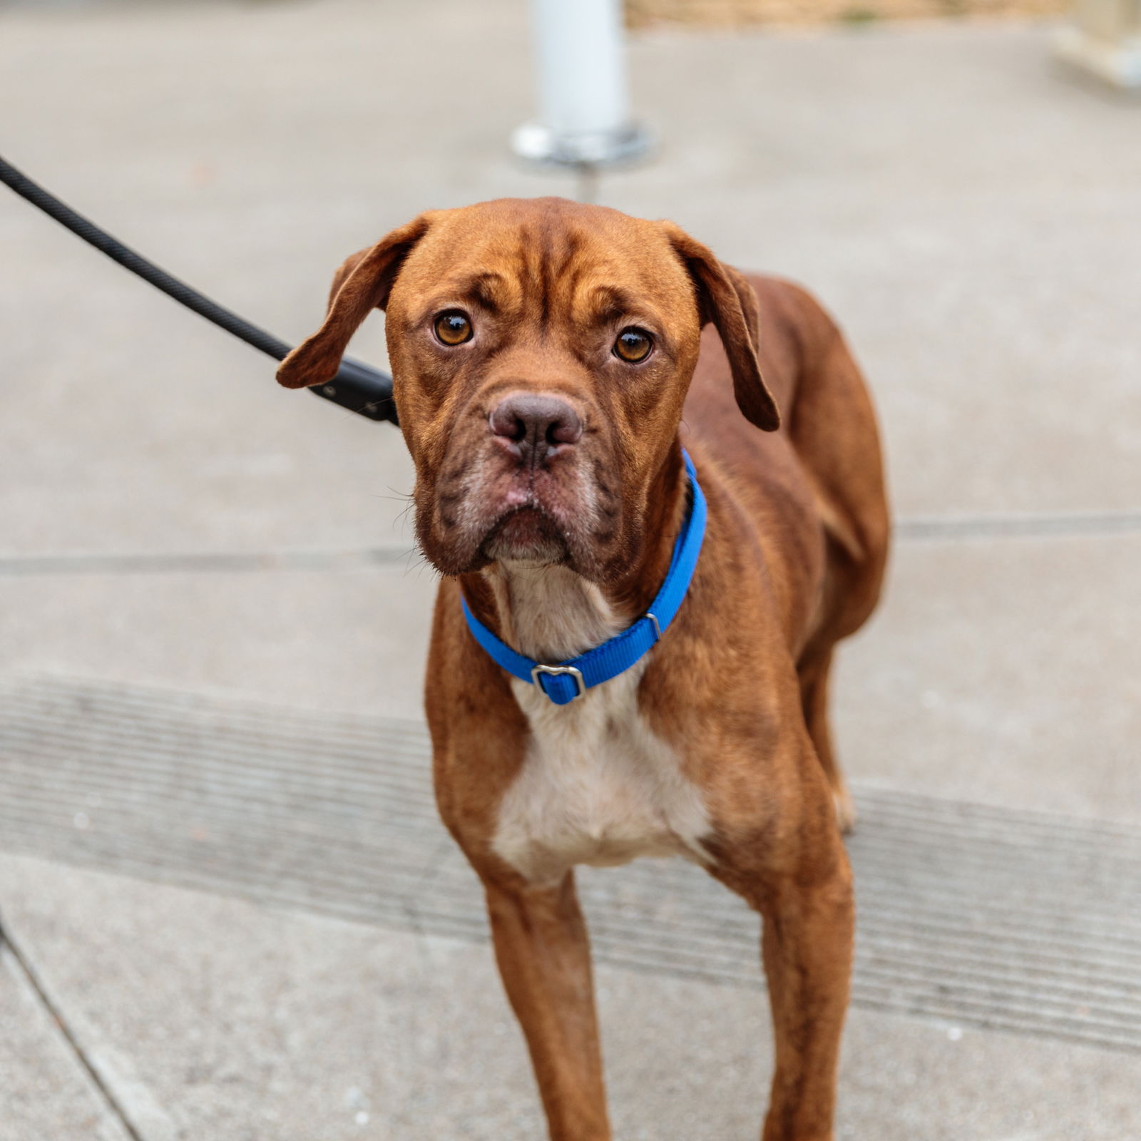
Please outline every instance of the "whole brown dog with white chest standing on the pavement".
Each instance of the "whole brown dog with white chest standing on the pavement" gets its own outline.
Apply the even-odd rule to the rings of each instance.
[[[841,334],[798,288],[744,277],[670,222],[503,200],[349,258],[281,382],[327,381],[373,307],[420,545],[444,576],[427,682],[439,810],[483,879],[551,1138],[610,1136],[574,866],[680,855],[764,920],[766,1141],[825,1141],[853,917],[828,669],[888,544],[875,420]],[[553,704],[477,644],[462,600],[549,664],[648,621],[694,510],[682,445],[709,520],[677,620]]]

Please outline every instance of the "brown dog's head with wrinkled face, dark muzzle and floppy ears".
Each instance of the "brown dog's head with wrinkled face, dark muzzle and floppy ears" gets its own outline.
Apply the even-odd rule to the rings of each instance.
[[[282,383],[331,379],[374,306],[420,544],[445,574],[560,563],[614,581],[675,456],[705,321],[745,414],[777,427],[751,288],[670,222],[561,199],[422,215],[341,267],[325,324]]]

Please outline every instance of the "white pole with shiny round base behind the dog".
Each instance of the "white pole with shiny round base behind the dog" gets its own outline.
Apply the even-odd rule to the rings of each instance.
[[[630,118],[621,0],[532,0],[539,120],[518,154],[566,165],[631,159],[648,139]]]

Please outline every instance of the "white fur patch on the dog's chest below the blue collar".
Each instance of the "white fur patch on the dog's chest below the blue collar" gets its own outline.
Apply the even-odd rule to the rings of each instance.
[[[644,669],[639,663],[563,706],[513,683],[532,737],[500,804],[493,848],[528,880],[557,881],[575,864],[638,856],[706,858],[701,793],[638,711]]]

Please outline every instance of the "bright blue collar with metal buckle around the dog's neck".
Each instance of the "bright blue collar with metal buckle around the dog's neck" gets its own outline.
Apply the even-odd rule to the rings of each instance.
[[[691,494],[686,521],[681,526],[678,541],[673,544],[670,569],[665,573],[662,589],[649,604],[649,609],[621,634],[578,657],[570,658],[569,662],[542,665],[529,657],[516,654],[507,642],[500,641],[468,609],[467,599],[461,597],[463,616],[468,620],[468,629],[476,641],[487,650],[497,665],[508,673],[513,673],[520,681],[539,686],[556,705],[567,705],[588,689],[600,686],[604,681],[609,681],[610,678],[616,678],[629,670],[665,633],[685,600],[697,566],[697,556],[701,555],[702,541],[705,539],[705,496],[697,483],[694,461],[689,459],[688,452],[683,451],[681,454],[686,461],[686,471],[689,474]]]

